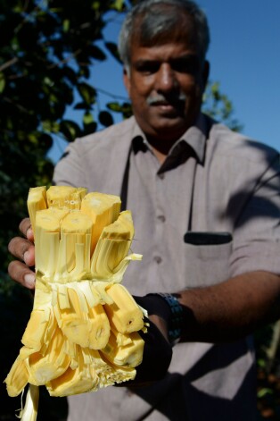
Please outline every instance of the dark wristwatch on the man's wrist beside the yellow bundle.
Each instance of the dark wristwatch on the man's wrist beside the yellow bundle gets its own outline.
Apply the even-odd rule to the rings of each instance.
[[[181,339],[183,307],[178,299],[172,294],[159,292],[158,295],[160,295],[162,299],[165,299],[171,310],[171,317],[169,319],[169,342],[174,346]]]

